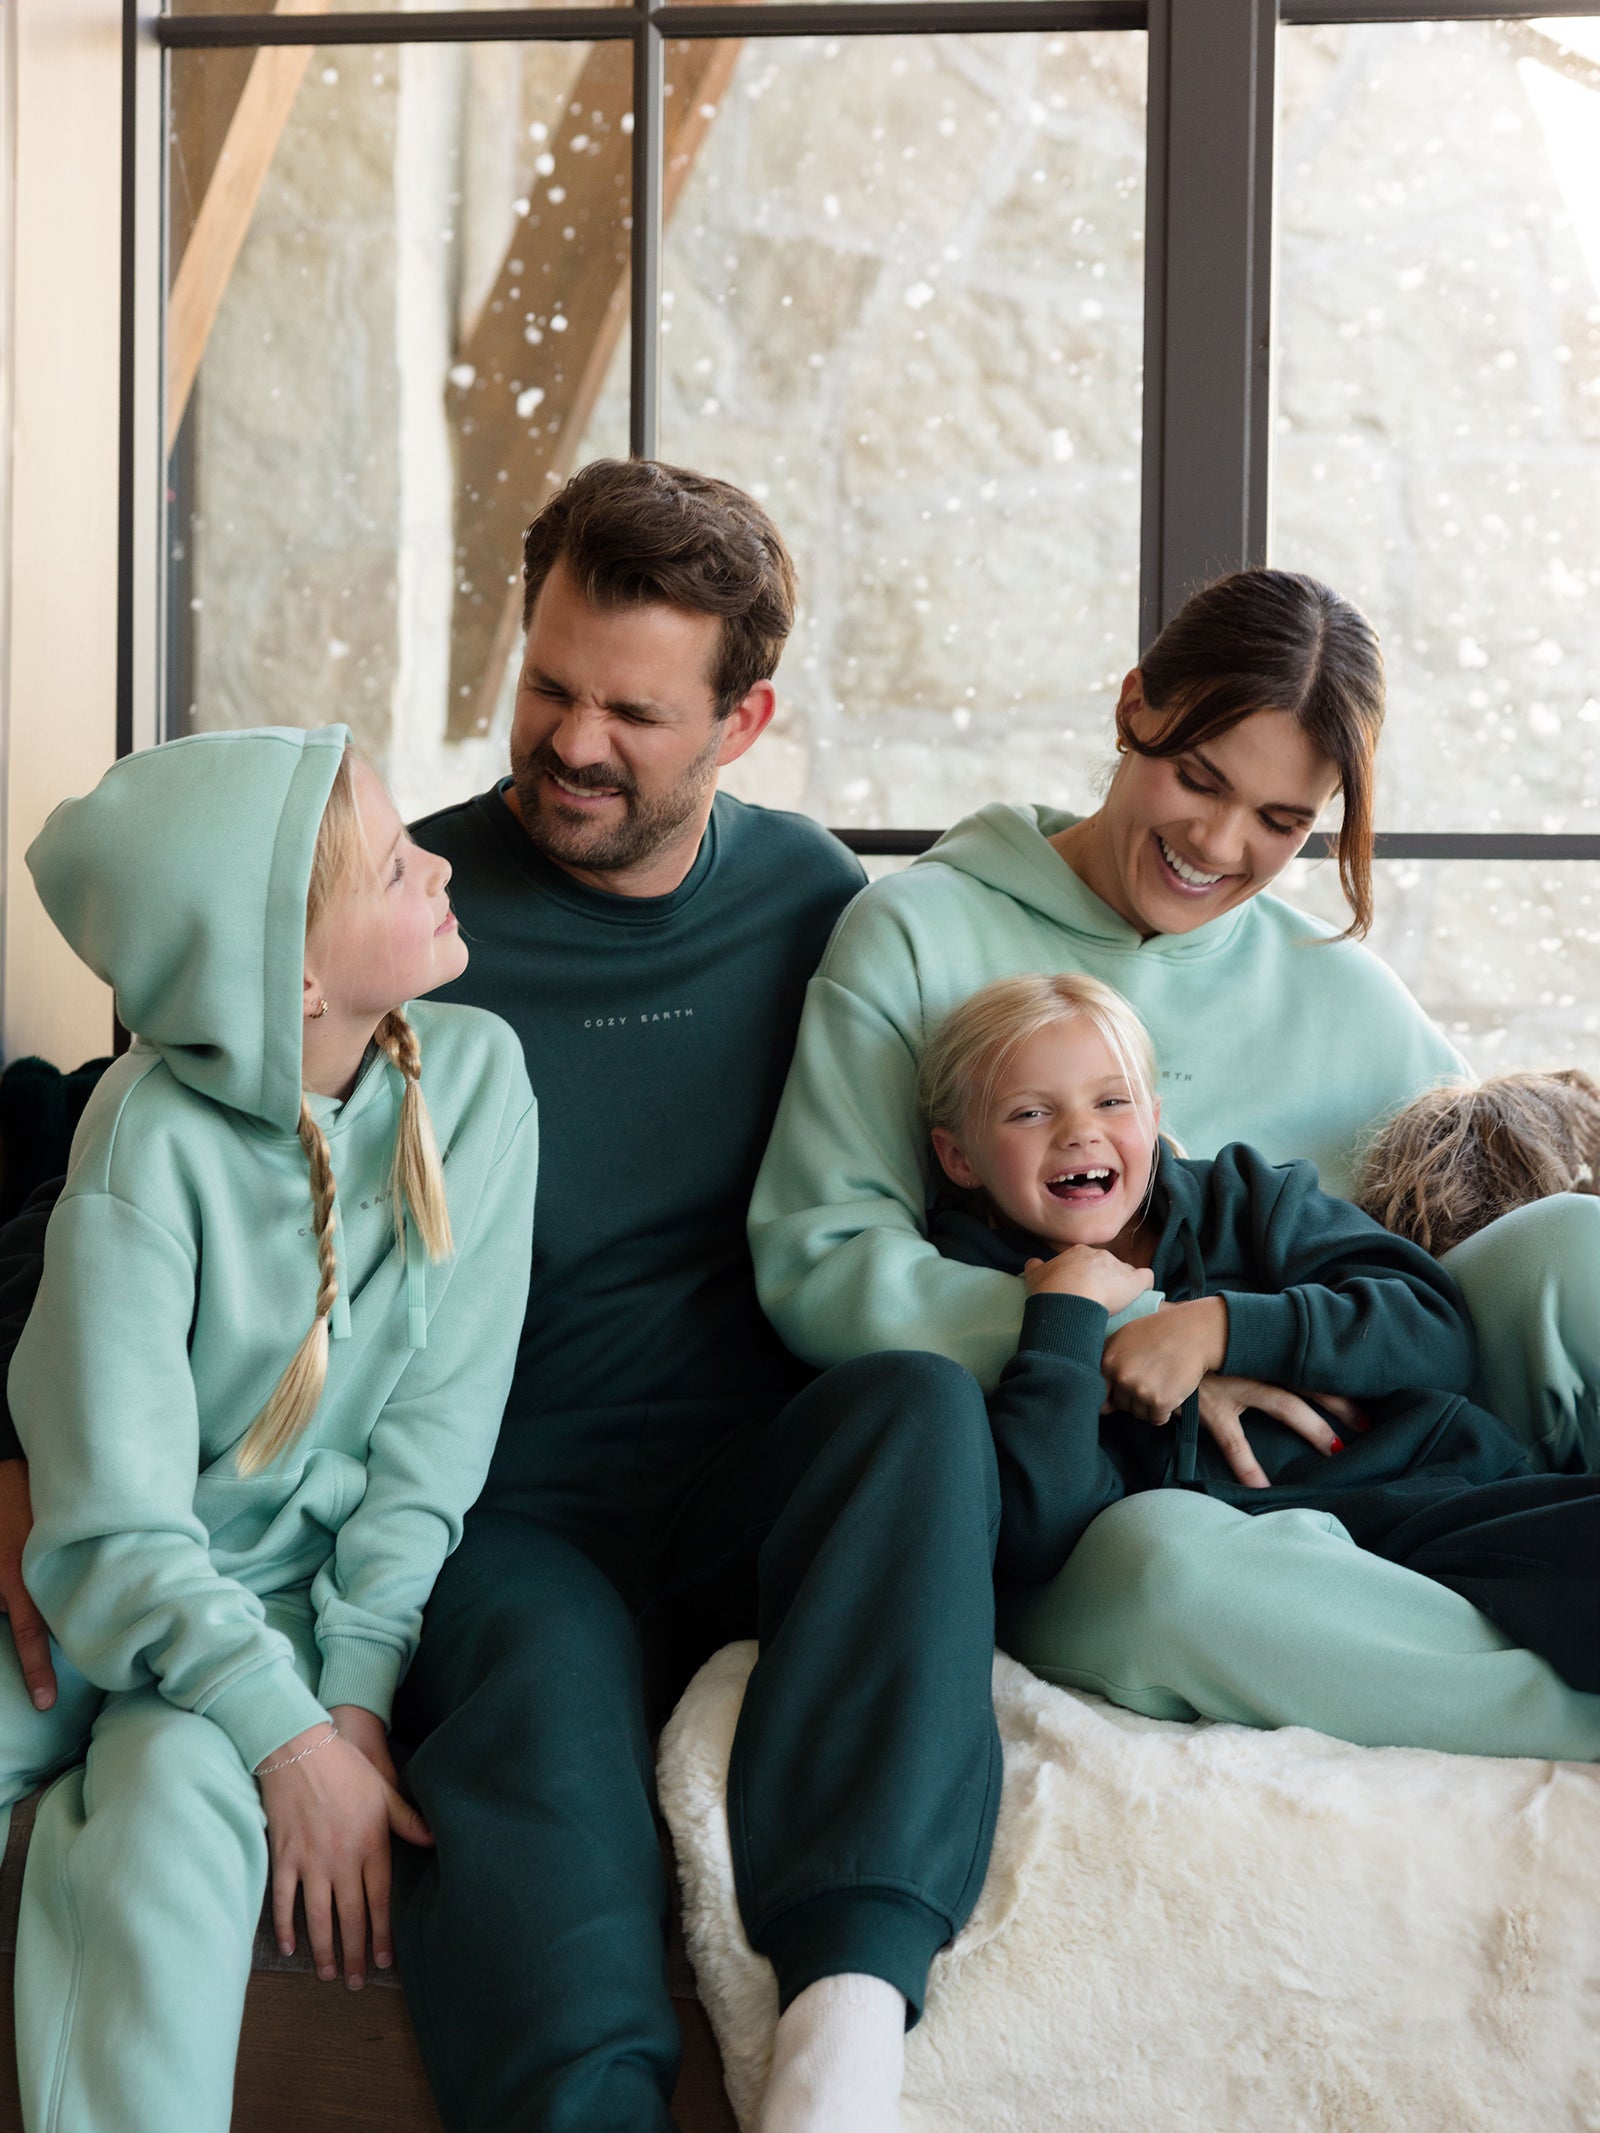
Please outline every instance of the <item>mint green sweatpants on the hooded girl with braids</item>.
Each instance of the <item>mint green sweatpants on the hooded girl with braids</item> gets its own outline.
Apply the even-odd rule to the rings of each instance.
[[[316,1681],[303,1591],[267,1600]],[[34,1711],[0,1627],[0,1841],[51,1770],[17,1920],[28,2133],[226,2133],[250,1945],[267,1886],[260,1790],[211,1719],[107,1696],[53,1651]]]

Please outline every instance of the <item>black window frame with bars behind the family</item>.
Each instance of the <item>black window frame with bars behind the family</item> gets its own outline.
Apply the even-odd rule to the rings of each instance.
[[[621,6],[166,15],[124,0],[117,753],[160,706],[164,62],[262,45],[634,47],[629,448],[651,454],[661,367],[666,45],[768,36],[1141,30],[1148,41],[1139,642],[1188,587],[1267,559],[1278,28],[1585,17],[1600,0],[627,0]],[[1222,209],[1222,211],[1218,211]],[[864,855],[937,830],[836,832]],[[1312,836],[1308,855],[1329,838]],[[1600,860],[1600,834],[1380,830],[1382,860]]]

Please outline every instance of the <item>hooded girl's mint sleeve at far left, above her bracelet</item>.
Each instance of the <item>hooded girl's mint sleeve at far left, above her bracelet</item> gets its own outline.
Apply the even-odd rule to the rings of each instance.
[[[194,1512],[194,1244],[113,1192],[68,1192],[51,1216],[11,1365],[34,1499],[23,1578],[87,1681],[156,1683],[254,1768],[326,1713]]]

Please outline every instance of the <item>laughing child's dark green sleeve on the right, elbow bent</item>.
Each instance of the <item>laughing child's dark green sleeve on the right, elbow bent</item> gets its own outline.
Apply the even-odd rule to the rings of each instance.
[[[1316,1184],[1312,1162],[1235,1143],[1212,1165],[1212,1209],[1248,1224],[1254,1282],[1229,1308],[1229,1376],[1301,1393],[1466,1393],[1474,1348],[1461,1293],[1436,1258]]]

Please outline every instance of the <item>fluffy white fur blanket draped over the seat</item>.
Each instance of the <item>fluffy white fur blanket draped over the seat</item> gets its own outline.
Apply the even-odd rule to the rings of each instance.
[[[753,1645],[661,1736],[685,1932],[749,2127],[777,2020],[723,1783]],[[1171,1726],[994,1659],[983,1896],[907,2133],[1600,2133],[1600,1768]]]

